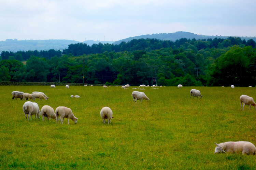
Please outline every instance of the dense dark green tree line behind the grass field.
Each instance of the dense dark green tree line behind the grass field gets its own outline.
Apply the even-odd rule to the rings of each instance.
[[[255,41],[239,37],[133,39],[119,45],[70,44],[62,53],[55,50],[2,53],[0,81],[82,83],[84,62],[85,83],[91,84],[256,84]],[[18,54],[26,56],[26,65],[17,60]]]

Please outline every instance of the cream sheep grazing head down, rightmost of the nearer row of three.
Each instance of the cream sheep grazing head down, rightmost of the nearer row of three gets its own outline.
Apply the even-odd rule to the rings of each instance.
[[[77,123],[77,119],[74,114],[72,113],[71,109],[65,106],[59,106],[55,109],[55,114],[56,114],[56,120],[58,123],[58,120],[60,120],[61,124],[63,124],[64,118],[68,118],[68,124],[69,124],[69,119],[73,120],[75,123]],[[60,116],[60,119],[59,119]]]

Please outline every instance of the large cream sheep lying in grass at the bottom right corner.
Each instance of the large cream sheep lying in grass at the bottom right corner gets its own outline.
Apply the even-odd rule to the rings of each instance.
[[[215,143],[215,142],[214,142]],[[242,152],[242,154],[255,154],[256,147],[251,142],[247,141],[238,141],[238,142],[224,142],[224,143],[215,143],[215,152],[214,153],[239,153]]]

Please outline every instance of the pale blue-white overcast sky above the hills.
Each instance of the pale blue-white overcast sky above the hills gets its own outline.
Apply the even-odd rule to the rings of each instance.
[[[176,31],[256,36],[256,1],[0,0],[0,41],[117,41]]]

